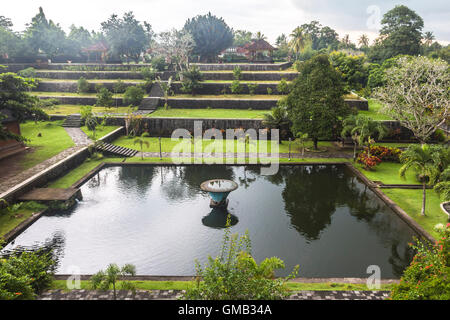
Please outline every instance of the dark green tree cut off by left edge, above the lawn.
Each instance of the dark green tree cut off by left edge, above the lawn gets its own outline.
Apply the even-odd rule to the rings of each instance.
[[[0,120],[5,113],[9,113],[19,122],[26,119],[47,119],[48,115],[38,107],[39,99],[29,94],[29,90],[36,87],[32,78],[22,78],[15,73],[0,74]],[[24,141],[25,138],[11,133],[0,121],[0,140],[15,139]]]

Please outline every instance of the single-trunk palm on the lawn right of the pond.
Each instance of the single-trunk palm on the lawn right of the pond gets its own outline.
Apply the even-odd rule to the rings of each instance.
[[[400,168],[400,177],[405,177],[406,172],[413,168],[417,171],[419,181],[422,183],[422,211],[425,216],[426,186],[434,184],[439,179],[439,149],[426,144],[412,144],[400,156],[403,166]]]

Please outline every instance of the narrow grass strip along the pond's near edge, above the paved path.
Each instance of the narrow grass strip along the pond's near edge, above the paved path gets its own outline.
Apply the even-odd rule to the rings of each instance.
[[[193,281],[132,281],[138,290],[186,290],[189,286],[194,285]],[[120,281],[118,282],[120,284]],[[90,281],[80,281],[82,290],[90,290],[92,286]],[[345,291],[345,290],[370,290],[365,284],[350,283],[300,283],[288,282],[287,287],[291,291]],[[391,285],[382,285],[380,290],[390,290]],[[68,290],[66,280],[54,280],[51,288],[53,290]]]

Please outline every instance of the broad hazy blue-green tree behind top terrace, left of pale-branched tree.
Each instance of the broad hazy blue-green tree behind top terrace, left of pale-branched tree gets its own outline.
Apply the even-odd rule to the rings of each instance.
[[[132,11],[126,12],[122,18],[113,14],[101,26],[113,55],[126,62],[130,59],[139,61],[153,36],[151,25],[145,21],[141,24]]]

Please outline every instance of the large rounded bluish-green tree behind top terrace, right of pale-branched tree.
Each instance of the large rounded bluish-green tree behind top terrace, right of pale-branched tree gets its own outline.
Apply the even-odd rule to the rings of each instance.
[[[188,19],[184,30],[194,38],[192,53],[200,56],[200,60],[204,62],[215,61],[220,52],[233,44],[233,30],[222,18],[211,13]]]

